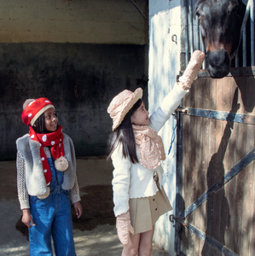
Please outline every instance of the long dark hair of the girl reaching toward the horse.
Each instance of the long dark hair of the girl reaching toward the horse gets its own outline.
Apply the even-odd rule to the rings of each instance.
[[[130,111],[125,115],[125,118],[121,124],[115,129],[115,131],[113,131],[109,137],[109,153],[107,155],[107,160],[111,158],[114,149],[117,148],[119,144],[121,144],[124,158],[129,157],[133,164],[138,163],[136,155],[136,141],[131,123],[131,115],[135,113],[136,109],[139,108],[141,104],[142,99],[139,99],[130,109]]]

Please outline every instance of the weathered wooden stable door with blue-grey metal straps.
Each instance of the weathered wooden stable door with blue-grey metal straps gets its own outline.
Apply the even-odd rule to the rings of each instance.
[[[255,255],[255,67],[200,72],[177,111],[177,255]]]

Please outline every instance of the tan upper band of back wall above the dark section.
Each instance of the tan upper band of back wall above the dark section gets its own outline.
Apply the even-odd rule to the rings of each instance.
[[[0,42],[148,44],[148,22],[130,0],[1,0]]]

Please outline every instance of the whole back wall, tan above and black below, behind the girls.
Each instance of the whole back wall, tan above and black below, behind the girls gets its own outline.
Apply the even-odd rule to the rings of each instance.
[[[136,0],[148,15],[148,0]],[[14,160],[27,98],[49,97],[80,155],[106,154],[107,106],[145,89],[148,20],[129,0],[0,1],[0,160]]]

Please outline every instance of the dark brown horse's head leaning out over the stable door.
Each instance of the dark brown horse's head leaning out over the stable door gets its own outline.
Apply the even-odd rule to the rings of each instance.
[[[195,5],[212,78],[221,79],[229,73],[239,46],[245,9],[241,0],[199,0]]]

